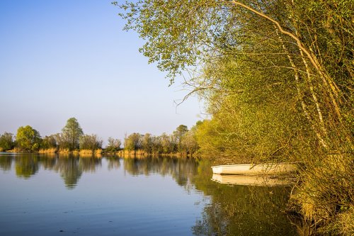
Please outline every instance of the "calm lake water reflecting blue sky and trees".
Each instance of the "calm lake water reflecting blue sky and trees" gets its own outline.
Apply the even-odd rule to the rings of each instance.
[[[0,235],[297,235],[290,187],[212,181],[207,160],[0,153]]]

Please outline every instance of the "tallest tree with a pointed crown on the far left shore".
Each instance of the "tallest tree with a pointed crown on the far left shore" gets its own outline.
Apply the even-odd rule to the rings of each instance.
[[[69,118],[67,125],[62,128],[62,136],[64,140],[67,140],[69,150],[75,150],[79,148],[79,139],[84,135],[76,118]]]

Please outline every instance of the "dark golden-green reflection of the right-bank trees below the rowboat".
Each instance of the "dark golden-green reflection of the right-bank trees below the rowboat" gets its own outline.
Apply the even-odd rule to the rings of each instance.
[[[224,185],[210,176],[210,164],[200,162],[193,184],[211,201],[194,235],[297,235],[284,213],[289,187]]]

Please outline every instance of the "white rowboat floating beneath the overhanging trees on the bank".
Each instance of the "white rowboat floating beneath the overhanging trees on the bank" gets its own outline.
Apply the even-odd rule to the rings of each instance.
[[[225,164],[212,167],[212,172],[214,174],[278,175],[295,172],[296,169],[296,165],[290,163]]]

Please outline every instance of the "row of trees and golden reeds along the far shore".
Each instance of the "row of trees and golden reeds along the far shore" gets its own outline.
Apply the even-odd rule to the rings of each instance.
[[[62,128],[62,133],[41,137],[40,133],[30,125],[18,128],[16,135],[4,133],[0,135],[1,152],[39,152],[43,154],[78,154],[81,157],[101,157],[101,154],[115,154],[121,157],[147,156],[181,156],[190,157],[198,154],[195,130],[201,122],[188,130],[187,126],[179,125],[167,135],[159,136],[146,133],[132,133],[122,142],[113,137],[103,147],[103,140],[98,135],[84,134],[76,118],[69,118]]]

